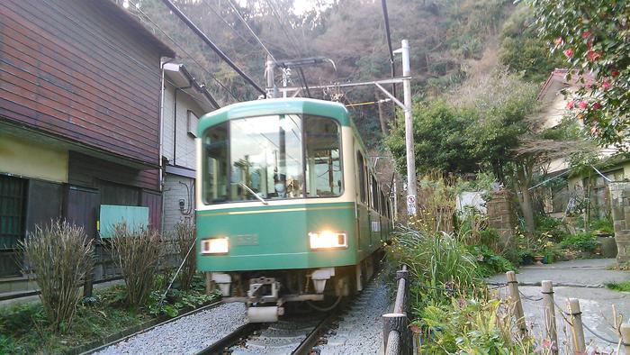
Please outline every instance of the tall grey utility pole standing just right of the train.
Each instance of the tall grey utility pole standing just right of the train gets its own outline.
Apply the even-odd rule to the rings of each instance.
[[[405,94],[405,143],[407,149],[407,214],[416,215],[416,154],[413,150],[410,42],[402,40],[402,88]]]

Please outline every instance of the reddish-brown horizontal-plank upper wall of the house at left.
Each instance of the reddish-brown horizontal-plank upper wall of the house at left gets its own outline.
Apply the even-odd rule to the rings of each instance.
[[[3,0],[0,118],[157,166],[173,54],[110,0]]]

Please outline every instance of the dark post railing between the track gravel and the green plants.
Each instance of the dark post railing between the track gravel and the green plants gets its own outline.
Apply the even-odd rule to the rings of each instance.
[[[409,307],[410,272],[407,265],[396,271],[398,290],[393,313],[383,314],[383,349],[385,354],[410,354],[413,342],[407,317]]]

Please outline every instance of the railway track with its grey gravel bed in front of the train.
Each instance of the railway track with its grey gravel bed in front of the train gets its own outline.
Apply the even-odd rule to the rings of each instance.
[[[370,346],[364,347],[367,342],[380,339],[375,334],[378,330],[365,332],[366,326],[374,323],[374,319],[370,318],[376,317],[378,328],[381,328],[380,310],[374,308],[374,302],[370,300],[376,296],[388,302],[383,287],[376,284],[373,279],[359,295],[329,311],[288,313],[277,323],[247,323],[245,305],[216,302],[85,354],[302,355],[319,354],[320,351],[322,354],[362,353],[362,350],[376,352]],[[359,339],[366,334],[369,339]]]

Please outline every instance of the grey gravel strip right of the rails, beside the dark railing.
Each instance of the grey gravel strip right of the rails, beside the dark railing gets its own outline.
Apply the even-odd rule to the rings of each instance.
[[[388,287],[375,280],[353,303],[332,331],[328,343],[320,345],[321,355],[376,354],[383,343],[383,320],[392,302]]]

